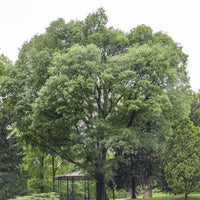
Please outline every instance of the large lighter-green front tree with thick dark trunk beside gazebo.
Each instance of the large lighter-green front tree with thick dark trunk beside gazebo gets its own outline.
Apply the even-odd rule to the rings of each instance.
[[[174,95],[186,98],[188,87],[185,66],[177,66],[173,54],[169,47],[145,45],[103,64],[100,50],[89,45],[75,46],[52,62],[51,76],[33,104],[31,128],[38,141],[51,143],[95,177],[97,199],[105,198],[108,152],[133,145],[137,134],[156,140],[169,131],[166,123],[172,125],[176,114],[170,113],[173,100],[182,101]],[[180,80],[186,85],[179,85]],[[179,106],[189,108],[187,103]]]

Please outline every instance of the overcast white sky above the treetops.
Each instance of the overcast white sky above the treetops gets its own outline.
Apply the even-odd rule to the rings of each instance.
[[[189,55],[192,89],[200,89],[199,0],[0,0],[0,53],[16,61],[23,43],[52,21],[83,20],[99,7],[106,10],[108,26],[129,32],[145,24],[180,43]]]

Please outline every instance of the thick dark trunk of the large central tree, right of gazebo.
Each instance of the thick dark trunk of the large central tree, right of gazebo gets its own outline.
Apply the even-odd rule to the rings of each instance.
[[[106,200],[104,174],[97,173],[95,175],[95,179],[96,179],[96,200]]]

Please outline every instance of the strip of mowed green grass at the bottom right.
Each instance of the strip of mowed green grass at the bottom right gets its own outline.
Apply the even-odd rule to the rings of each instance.
[[[143,199],[143,197],[138,197],[138,199]],[[184,195],[154,193],[153,198],[148,198],[148,200],[184,200]],[[189,194],[188,200],[200,200],[200,193]]]

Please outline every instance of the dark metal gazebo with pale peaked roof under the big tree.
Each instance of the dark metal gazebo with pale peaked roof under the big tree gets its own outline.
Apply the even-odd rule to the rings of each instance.
[[[90,199],[90,191],[89,191],[89,177],[87,176],[86,173],[83,173],[81,171],[78,172],[73,172],[69,174],[64,174],[60,176],[55,176],[54,180],[58,180],[58,193],[61,190],[61,181],[66,180],[67,181],[67,197],[61,198],[62,200],[75,200],[75,199],[80,199],[74,196],[74,181],[75,180],[83,180],[85,181],[85,195],[84,199]],[[71,181],[71,195],[69,195],[69,181]]]

